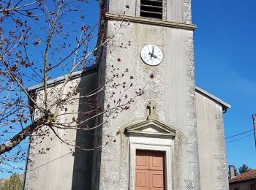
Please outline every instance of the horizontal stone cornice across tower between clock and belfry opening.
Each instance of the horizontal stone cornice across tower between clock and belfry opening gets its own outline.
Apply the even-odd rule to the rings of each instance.
[[[105,14],[105,17],[107,20],[128,20],[129,22],[132,22],[132,23],[144,23],[149,25],[164,26],[169,28],[181,28],[181,29],[192,30],[192,31],[194,31],[197,28],[197,26],[193,24],[173,23],[165,20],[153,20],[148,18],[139,18],[139,17],[127,16],[127,15],[117,15],[109,12]]]

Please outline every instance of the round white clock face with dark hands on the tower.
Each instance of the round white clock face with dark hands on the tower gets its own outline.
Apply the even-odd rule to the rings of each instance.
[[[146,45],[142,48],[140,56],[145,64],[156,66],[162,62],[162,50],[157,45]]]

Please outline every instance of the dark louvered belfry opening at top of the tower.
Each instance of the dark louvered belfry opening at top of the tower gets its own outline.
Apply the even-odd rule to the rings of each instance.
[[[163,0],[141,0],[140,16],[162,19],[162,1]]]

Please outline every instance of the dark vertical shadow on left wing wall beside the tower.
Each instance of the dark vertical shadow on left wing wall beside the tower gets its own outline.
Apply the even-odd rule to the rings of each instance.
[[[85,96],[89,92],[97,88],[97,73],[92,73],[81,77],[78,89],[80,96]],[[94,97],[80,98],[78,110],[80,113],[86,113],[91,110],[91,103]],[[88,116],[83,114],[78,115],[78,121],[84,121]],[[95,125],[95,120],[91,120],[88,123],[83,123],[80,126],[81,129],[85,129]],[[93,148],[94,147],[94,130],[83,131],[77,130],[76,142],[77,147],[82,148]],[[96,150],[94,150],[96,151]],[[83,151],[80,148],[76,148],[74,153],[74,167],[72,173],[72,190],[85,190],[91,189],[91,176],[93,175],[93,158],[94,151]],[[68,164],[68,163],[67,163]]]

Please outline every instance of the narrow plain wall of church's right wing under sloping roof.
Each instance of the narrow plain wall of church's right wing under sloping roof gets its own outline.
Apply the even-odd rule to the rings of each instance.
[[[227,161],[222,105],[196,94],[201,188],[227,190]]]

